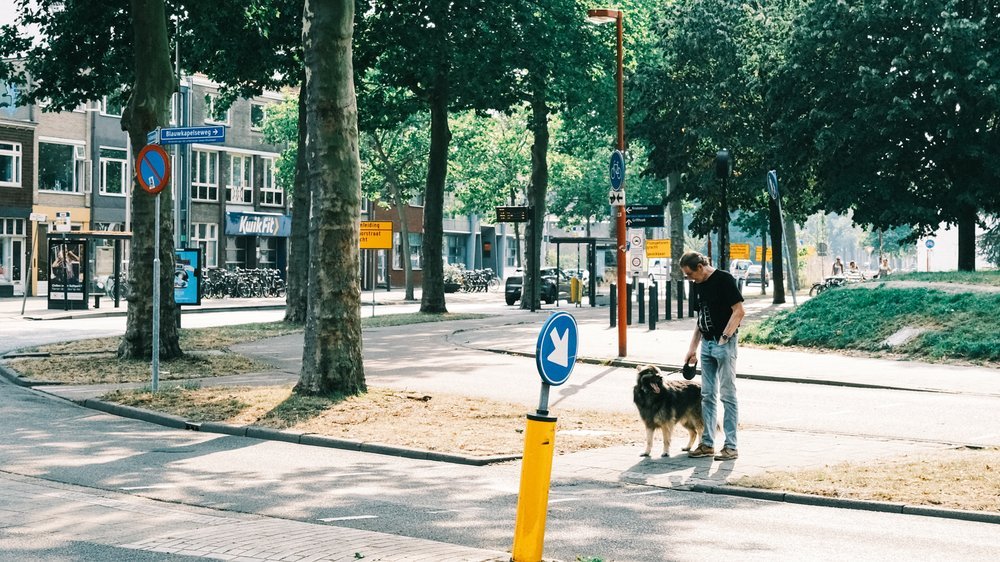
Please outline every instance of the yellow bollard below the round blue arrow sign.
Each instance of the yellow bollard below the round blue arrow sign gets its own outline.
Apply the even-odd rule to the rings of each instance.
[[[552,455],[556,444],[556,418],[528,414],[521,462],[521,489],[514,523],[514,562],[540,562],[545,542],[545,516],[549,507]]]

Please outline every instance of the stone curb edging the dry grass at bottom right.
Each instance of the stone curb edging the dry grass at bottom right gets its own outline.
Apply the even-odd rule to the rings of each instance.
[[[899,502],[831,498],[814,494],[799,494],[795,492],[762,490],[757,488],[741,488],[729,485],[695,484],[694,486],[691,486],[690,491],[703,494],[737,496],[756,500],[796,503],[800,505],[812,505],[818,507],[878,511],[882,513],[898,513],[901,515],[921,515],[924,517],[939,517],[942,519],[958,519],[962,521],[975,521],[979,523],[992,523],[994,525],[1000,525],[1000,513],[982,511],[926,507]]]

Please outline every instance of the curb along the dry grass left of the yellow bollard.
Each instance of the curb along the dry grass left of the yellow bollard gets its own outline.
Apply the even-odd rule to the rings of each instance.
[[[465,455],[454,455],[441,453],[438,451],[427,451],[424,449],[413,449],[398,445],[386,445],[384,443],[373,443],[365,441],[355,441],[352,439],[338,439],[327,437],[315,433],[298,433],[294,431],[281,431],[269,427],[259,427],[255,425],[230,425],[221,422],[192,422],[184,418],[144,410],[132,406],[123,406],[113,402],[105,402],[94,398],[74,401],[85,408],[98,410],[108,414],[131,418],[149,423],[155,423],[172,429],[185,429],[189,431],[200,431],[204,433],[219,433],[236,437],[249,437],[251,439],[261,439],[266,441],[282,441],[294,443],[296,445],[311,445],[314,447],[328,447],[331,449],[346,449],[359,451],[362,453],[374,453],[377,455],[388,455],[394,457],[405,457],[410,459],[428,460],[435,462],[447,462],[452,464],[464,464],[470,466],[486,466],[501,462],[519,460],[520,455],[496,455],[491,457],[472,457]]]

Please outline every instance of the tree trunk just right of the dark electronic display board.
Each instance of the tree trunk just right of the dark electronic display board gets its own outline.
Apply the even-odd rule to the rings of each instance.
[[[545,192],[549,185],[549,108],[545,104],[545,88],[537,87],[531,98],[531,181],[528,184],[528,204],[531,205],[531,221],[527,232],[529,245],[527,267],[524,276],[524,295],[521,308],[535,308],[541,305],[542,226],[545,221]],[[558,288],[556,290],[558,293]],[[530,300],[529,300],[530,299]]]

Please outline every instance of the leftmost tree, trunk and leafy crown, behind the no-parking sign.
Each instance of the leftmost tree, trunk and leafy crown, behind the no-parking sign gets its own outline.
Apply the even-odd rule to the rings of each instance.
[[[17,20],[0,29],[0,78],[25,87],[26,103],[46,111],[72,111],[103,96],[127,100],[122,112],[135,154],[146,134],[166,125],[177,79],[170,62],[167,13],[163,0],[61,2],[16,0]],[[135,167],[133,167],[135,169]],[[123,359],[148,359],[153,344],[153,255],[155,199],[131,189],[132,243],[125,335],[118,347]],[[173,198],[168,185],[160,205],[160,307],[176,308],[173,291]],[[160,357],[183,355],[177,321],[160,316]]]

